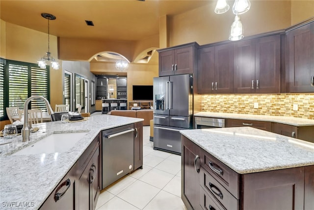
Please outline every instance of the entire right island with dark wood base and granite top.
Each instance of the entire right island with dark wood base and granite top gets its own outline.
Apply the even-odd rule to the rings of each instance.
[[[313,143],[251,127],[180,132],[188,209],[313,208]]]

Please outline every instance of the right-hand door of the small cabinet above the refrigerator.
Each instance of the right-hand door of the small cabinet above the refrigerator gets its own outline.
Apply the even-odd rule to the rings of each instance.
[[[194,47],[183,47],[174,50],[175,74],[193,74]]]

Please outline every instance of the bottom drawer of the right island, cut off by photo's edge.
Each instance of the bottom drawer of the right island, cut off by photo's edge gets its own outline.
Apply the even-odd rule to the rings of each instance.
[[[226,210],[210,193],[200,186],[200,205],[203,210]]]

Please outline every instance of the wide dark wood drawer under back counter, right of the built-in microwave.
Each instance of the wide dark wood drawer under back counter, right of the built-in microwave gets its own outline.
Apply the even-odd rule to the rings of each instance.
[[[227,127],[245,127],[245,126],[271,131],[271,122],[258,120],[227,119]]]

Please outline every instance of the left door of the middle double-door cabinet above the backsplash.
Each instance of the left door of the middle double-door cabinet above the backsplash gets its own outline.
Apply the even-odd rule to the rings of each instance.
[[[250,39],[236,42],[234,91],[255,92],[255,85],[255,41]]]

